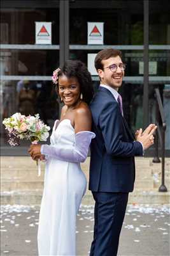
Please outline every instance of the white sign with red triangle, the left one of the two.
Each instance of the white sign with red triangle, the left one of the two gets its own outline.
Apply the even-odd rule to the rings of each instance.
[[[36,22],[36,44],[52,44],[52,22]]]

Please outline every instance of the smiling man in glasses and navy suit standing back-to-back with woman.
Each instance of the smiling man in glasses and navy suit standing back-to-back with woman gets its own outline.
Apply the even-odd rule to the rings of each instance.
[[[153,144],[149,125],[132,136],[124,118],[122,85],[125,65],[121,52],[104,49],[98,52],[95,67],[100,78],[99,90],[90,104],[92,131],[89,189],[95,200],[94,240],[90,256],[116,256],[129,192],[134,188],[134,156],[143,156]]]

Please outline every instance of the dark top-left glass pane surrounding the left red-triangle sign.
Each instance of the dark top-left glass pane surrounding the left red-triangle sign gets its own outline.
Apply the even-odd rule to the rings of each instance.
[[[59,44],[59,8],[2,9],[1,44],[35,44],[35,22],[52,22],[52,44]]]

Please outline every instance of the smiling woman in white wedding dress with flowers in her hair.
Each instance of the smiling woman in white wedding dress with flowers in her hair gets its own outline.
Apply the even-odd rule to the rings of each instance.
[[[53,72],[60,99],[60,120],[53,125],[50,145],[31,145],[32,159],[46,160],[45,184],[38,227],[39,255],[76,255],[76,214],[87,180],[80,168],[95,134],[88,104],[92,79],[81,61],[69,60]]]

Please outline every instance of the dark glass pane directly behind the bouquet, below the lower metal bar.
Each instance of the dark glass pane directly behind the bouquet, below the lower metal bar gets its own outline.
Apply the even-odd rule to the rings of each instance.
[[[1,81],[1,120],[16,112],[39,116],[45,124],[53,127],[59,118],[59,97],[51,81]],[[1,122],[2,145],[7,142]],[[21,141],[21,145],[27,142]]]

